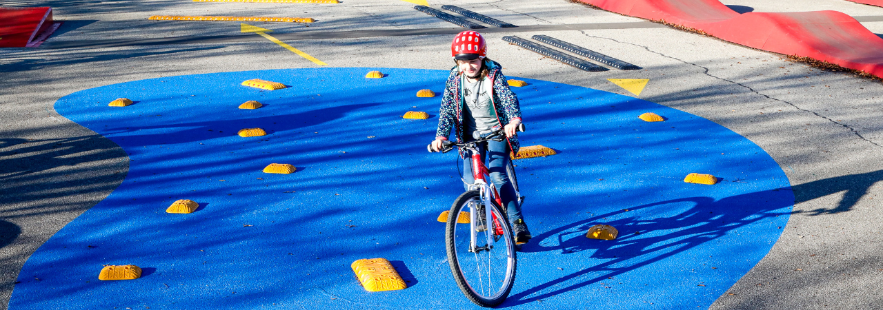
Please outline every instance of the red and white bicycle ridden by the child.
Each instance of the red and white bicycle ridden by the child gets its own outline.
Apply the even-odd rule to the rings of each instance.
[[[525,131],[524,124],[519,126],[518,131]],[[467,184],[466,192],[454,200],[449,210],[445,247],[451,273],[466,298],[479,306],[497,306],[509,297],[515,284],[517,245],[500,194],[490,181],[487,167],[481,159],[479,143],[502,141],[505,133],[502,129],[496,129],[485,135],[474,136],[475,140],[466,143],[445,141],[442,150],[439,150],[446,153],[457,146],[460,157],[464,159],[466,157],[463,155],[468,151],[474,180],[472,184]],[[431,144],[426,145],[426,150],[435,151]],[[521,203],[524,197],[518,193],[511,160],[506,168]]]

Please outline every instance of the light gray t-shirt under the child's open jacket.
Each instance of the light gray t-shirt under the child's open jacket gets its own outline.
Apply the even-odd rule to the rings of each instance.
[[[494,104],[491,103],[490,80],[484,78],[470,82],[466,77],[462,78],[463,99],[466,101],[463,107],[464,134],[472,137],[472,132],[475,130],[479,130],[482,134],[488,133],[494,126],[500,125]]]

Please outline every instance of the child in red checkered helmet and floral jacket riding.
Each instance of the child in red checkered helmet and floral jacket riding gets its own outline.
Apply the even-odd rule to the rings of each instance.
[[[481,34],[464,31],[451,42],[450,54],[457,65],[450,70],[445,83],[442,107],[439,109],[439,125],[432,146],[442,149],[453,127],[457,142],[473,140],[473,133],[487,134],[502,127],[506,133],[503,141],[487,141],[479,147],[481,158],[486,160],[491,181],[500,190],[503,207],[506,208],[515,242],[523,244],[531,240],[521,214],[521,205],[515,188],[506,173],[509,152],[518,151],[517,128],[521,124],[521,108],[514,92],[509,90],[500,63],[487,58],[487,43]],[[468,159],[470,154],[464,154]],[[464,160],[464,181],[472,183],[472,165]]]

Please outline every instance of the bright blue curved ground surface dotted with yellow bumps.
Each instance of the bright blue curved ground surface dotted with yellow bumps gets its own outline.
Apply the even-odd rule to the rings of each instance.
[[[387,74],[365,78],[370,70]],[[472,308],[436,221],[463,191],[456,155],[428,153],[446,70],[298,69],[160,77],[75,92],[56,109],[129,153],[122,185],[26,262],[11,309]],[[251,78],[291,87],[239,85]],[[503,307],[707,307],[773,246],[794,197],[757,145],[698,116],[584,87],[513,87],[534,239]],[[135,100],[107,107],[110,100]],[[265,104],[240,110],[246,100]],[[429,120],[406,120],[426,111]],[[643,122],[653,112],[666,122]],[[263,128],[265,137],[238,137]],[[270,163],[296,173],[269,174]],[[123,167],[120,169],[125,171]],[[712,173],[713,185],[684,183]],[[191,214],[168,214],[192,199]],[[617,240],[590,240],[595,224]],[[366,292],[350,268],[384,257],[408,281]],[[140,279],[100,281],[102,265]]]

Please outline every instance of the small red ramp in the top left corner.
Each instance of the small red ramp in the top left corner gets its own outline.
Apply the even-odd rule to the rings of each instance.
[[[0,48],[25,48],[52,28],[52,9],[0,8]]]

